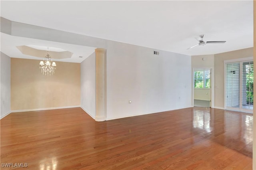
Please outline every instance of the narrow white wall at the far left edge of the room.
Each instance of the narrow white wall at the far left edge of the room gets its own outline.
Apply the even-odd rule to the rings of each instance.
[[[8,115],[11,110],[11,58],[1,52],[0,55],[1,81],[1,113],[0,118]]]

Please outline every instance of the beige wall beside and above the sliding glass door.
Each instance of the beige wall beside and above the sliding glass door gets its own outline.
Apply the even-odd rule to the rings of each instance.
[[[253,47],[214,55],[214,106],[224,108],[224,60],[253,56]]]

